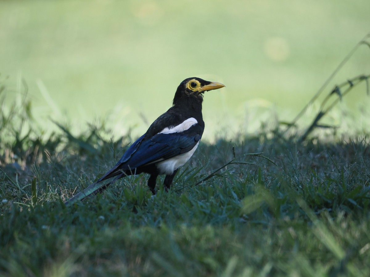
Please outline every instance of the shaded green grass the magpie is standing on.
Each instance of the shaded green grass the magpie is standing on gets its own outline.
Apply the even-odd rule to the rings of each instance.
[[[220,138],[199,146],[169,192],[151,196],[147,176],[131,176],[66,208],[115,164],[130,136],[106,139],[102,124],[41,139],[27,113],[1,120],[0,135],[14,138],[0,142],[2,276],[370,274],[366,136],[297,143],[266,129]],[[260,152],[271,161],[246,155]]]

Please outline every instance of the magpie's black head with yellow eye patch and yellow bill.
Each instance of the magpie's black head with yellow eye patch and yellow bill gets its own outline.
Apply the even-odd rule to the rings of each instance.
[[[223,88],[224,86],[225,85],[223,85],[222,83],[209,82],[196,77],[185,79],[180,83],[176,90],[174,97],[174,105],[178,101],[188,98],[197,99],[198,101],[202,102],[203,100],[202,93],[212,89]]]

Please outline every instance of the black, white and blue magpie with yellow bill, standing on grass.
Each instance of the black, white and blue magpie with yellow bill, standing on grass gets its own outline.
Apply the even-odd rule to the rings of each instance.
[[[143,172],[150,175],[148,187],[153,195],[156,194],[158,175],[165,175],[164,188],[168,190],[176,172],[194,154],[201,140],[204,130],[203,94],[223,87],[222,83],[197,77],[182,81],[176,89],[172,107],[149,126],[111,170],[66,201],[65,205],[100,193],[120,178]]]

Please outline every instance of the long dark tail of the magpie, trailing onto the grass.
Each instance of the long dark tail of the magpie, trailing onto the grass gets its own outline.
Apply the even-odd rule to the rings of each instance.
[[[126,177],[126,176],[131,175],[131,174],[132,174],[131,172],[127,172],[127,171],[124,171],[124,170],[120,169],[119,164],[117,164],[114,168],[112,168],[110,171],[108,171],[98,181],[96,181],[94,184],[88,186],[83,191],[78,192],[78,194],[76,194],[72,198],[65,201],[64,204],[66,206],[69,206],[69,205],[74,204],[77,201],[83,201],[85,198],[87,198],[90,195],[95,195],[95,194],[98,194],[98,193],[104,191],[104,189],[106,189],[110,184],[114,183],[118,179],[120,179],[122,177]],[[108,181],[108,180],[110,180],[110,181]]]

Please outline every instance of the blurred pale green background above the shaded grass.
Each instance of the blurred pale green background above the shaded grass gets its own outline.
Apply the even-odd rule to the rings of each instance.
[[[203,105],[212,140],[292,120],[369,33],[369,11],[369,0],[0,1],[0,74],[11,92],[26,81],[45,129],[50,117],[75,130],[102,119],[117,136],[143,133],[183,79],[222,82]],[[363,45],[328,92],[369,72]],[[326,120],[340,124],[343,110],[364,117],[365,91]]]

